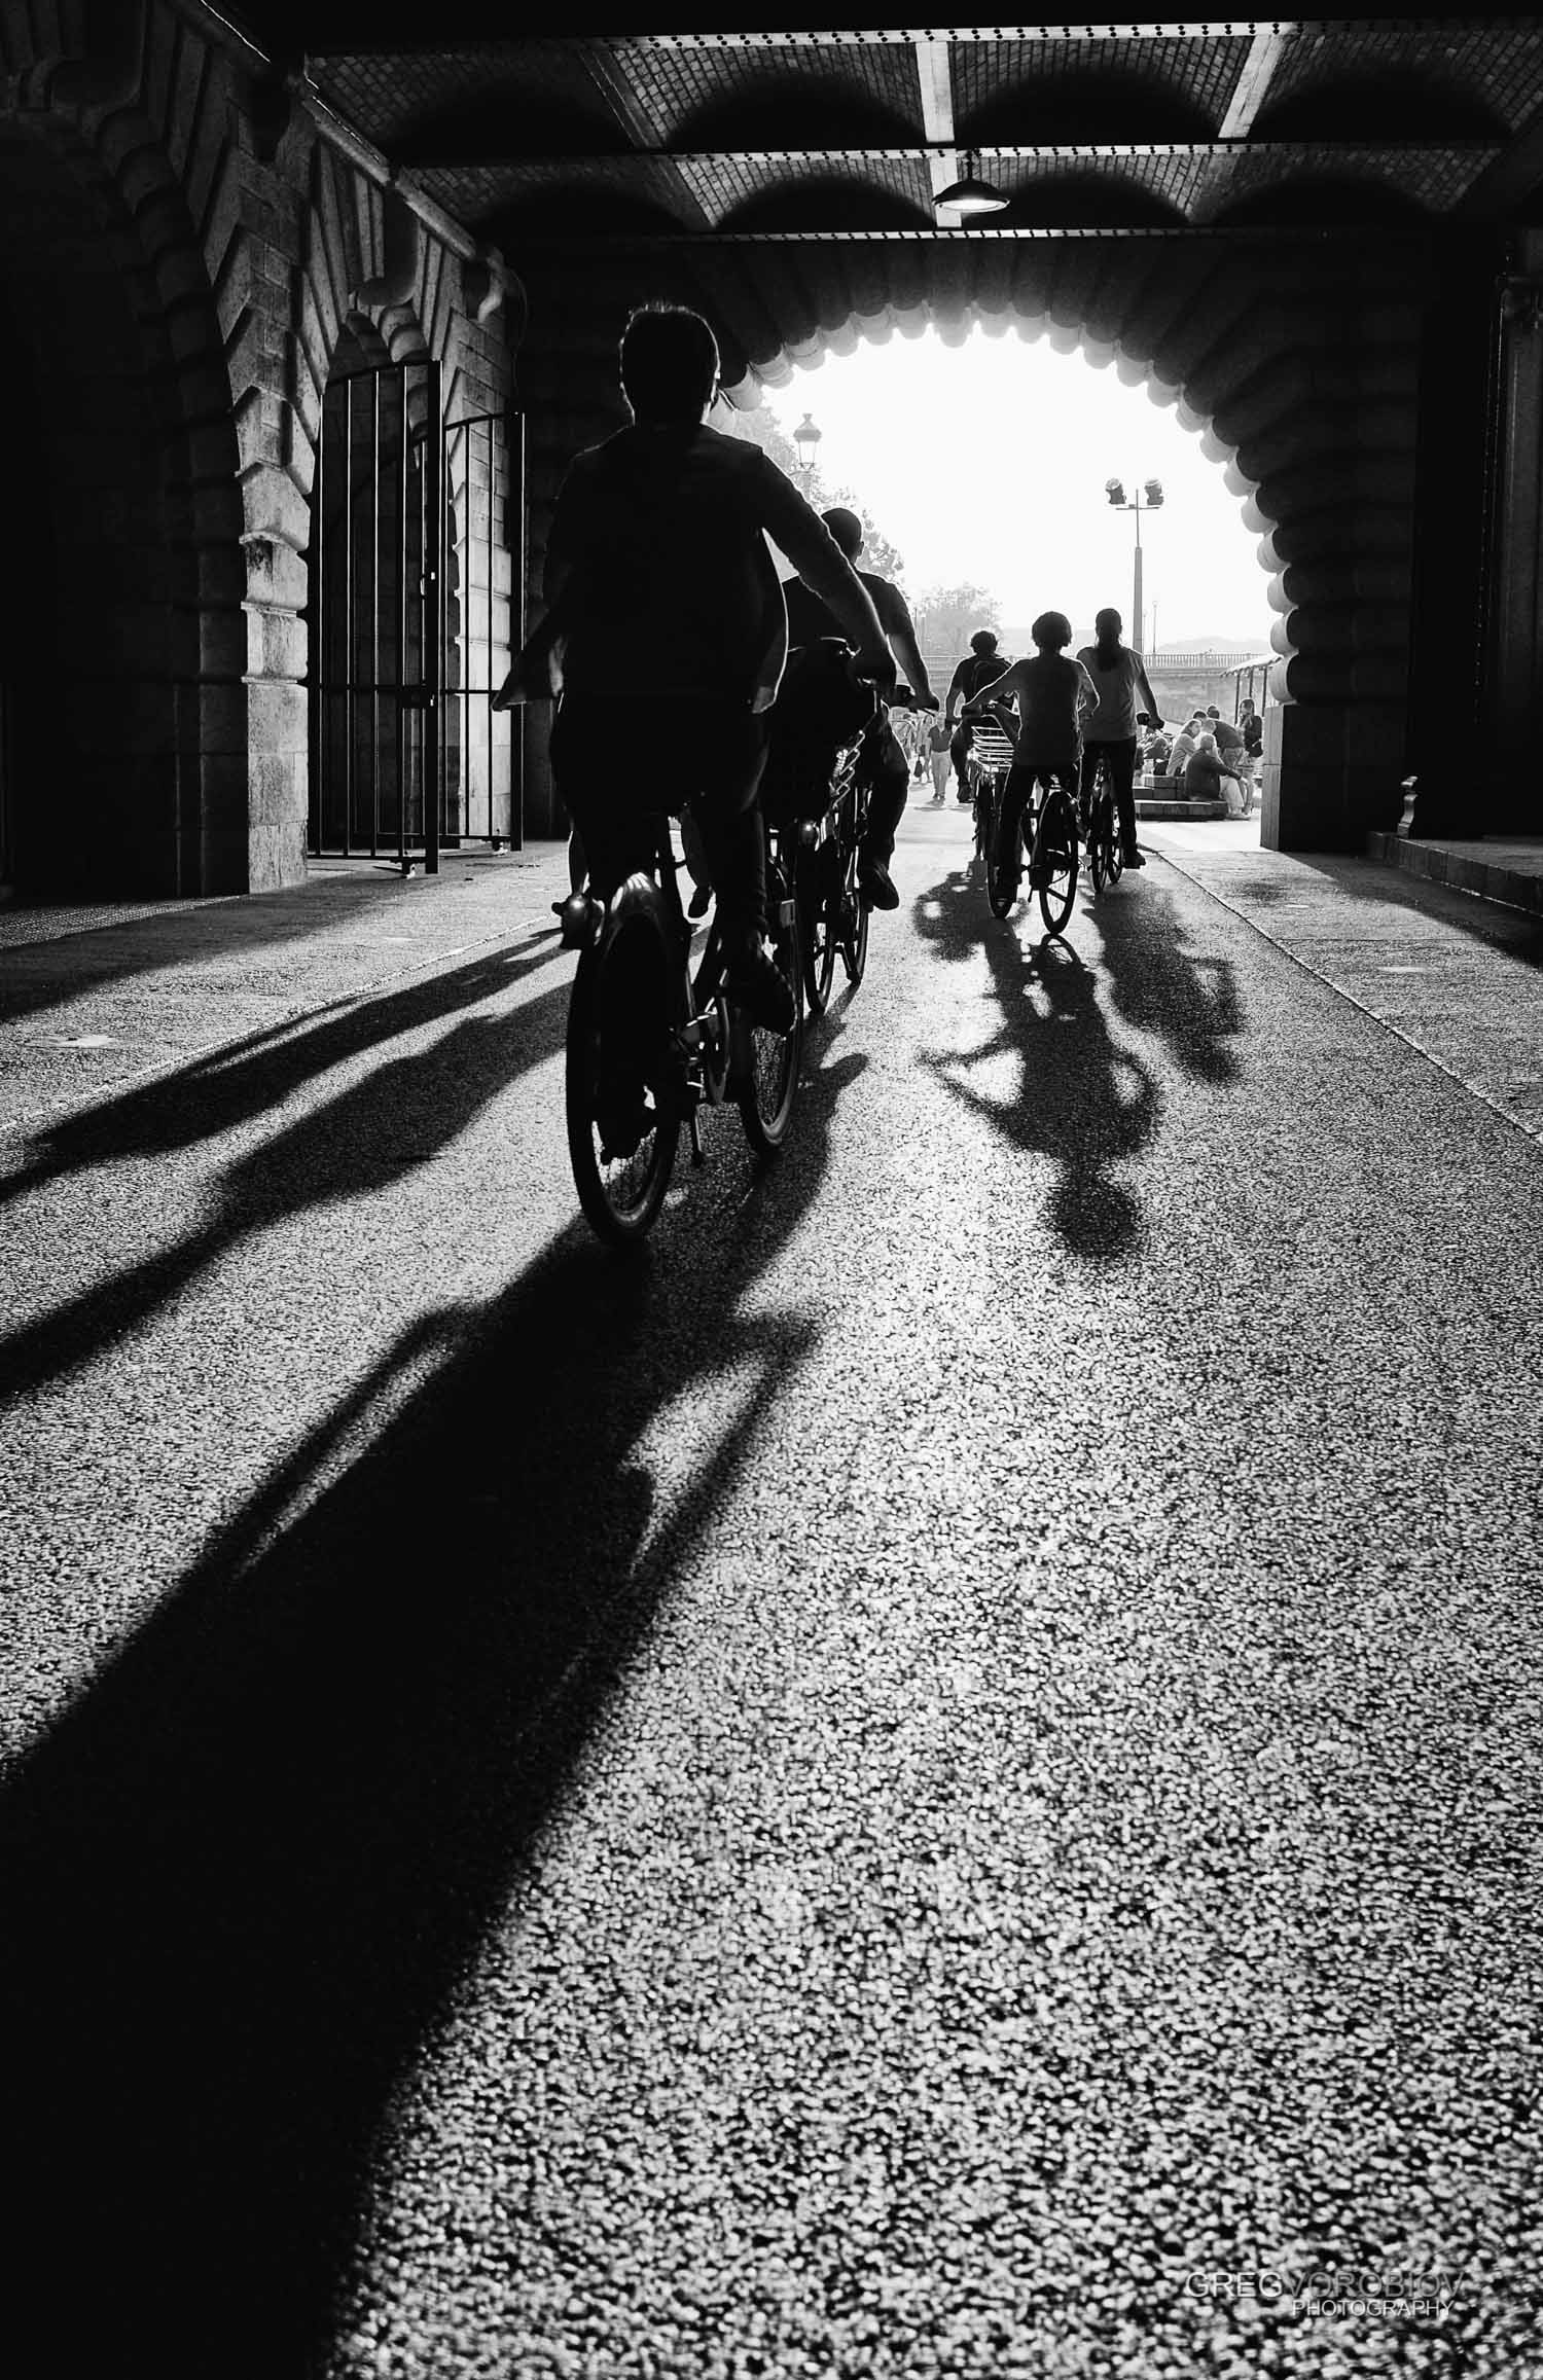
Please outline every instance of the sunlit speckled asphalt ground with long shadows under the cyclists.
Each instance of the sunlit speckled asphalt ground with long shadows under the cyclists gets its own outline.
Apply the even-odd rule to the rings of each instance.
[[[0,912],[19,2370],[1543,2370],[1543,933],[1250,843],[638,1264],[555,850]]]

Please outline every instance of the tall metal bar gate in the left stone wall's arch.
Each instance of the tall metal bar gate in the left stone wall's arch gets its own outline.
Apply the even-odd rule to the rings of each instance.
[[[502,414],[441,426],[441,369],[331,383],[314,495],[310,850],[519,843],[517,740],[488,695],[519,628]]]

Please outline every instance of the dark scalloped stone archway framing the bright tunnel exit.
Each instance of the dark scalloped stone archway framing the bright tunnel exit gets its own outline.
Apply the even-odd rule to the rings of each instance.
[[[712,238],[579,243],[529,255],[521,357],[531,433],[531,590],[567,457],[624,419],[614,340],[631,305],[671,298],[717,326],[731,397],[762,371],[936,321],[1038,324],[1183,407],[1264,540],[1279,666],[1264,835],[1357,850],[1391,826],[1407,769],[1419,352],[1426,252],[1298,238],[1076,240]],[[738,386],[736,386],[738,383]],[[545,778],[541,721],[526,783]],[[550,793],[545,793],[548,814]]]

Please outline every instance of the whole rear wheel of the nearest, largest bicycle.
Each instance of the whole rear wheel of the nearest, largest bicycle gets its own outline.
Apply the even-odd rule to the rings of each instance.
[[[652,888],[650,888],[652,890]],[[612,1247],[652,1230],[681,1138],[669,1066],[669,935],[633,885],[579,957],[567,1019],[564,1107],[583,1219]]]

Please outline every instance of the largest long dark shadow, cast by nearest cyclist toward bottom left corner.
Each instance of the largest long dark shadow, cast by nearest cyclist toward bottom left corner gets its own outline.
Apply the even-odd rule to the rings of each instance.
[[[850,1071],[810,1081],[750,1200],[688,1197],[643,1264],[574,1230],[414,1328],[0,1795],[7,2330],[40,2323],[50,2368],[324,2359],[391,2094],[812,1349],[807,1314],[736,1309]],[[643,1430],[731,1368],[655,1511]]]

